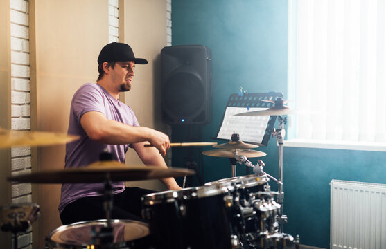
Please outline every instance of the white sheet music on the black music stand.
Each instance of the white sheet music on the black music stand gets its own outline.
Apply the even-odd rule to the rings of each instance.
[[[253,107],[249,108],[249,111],[263,111],[266,109]],[[240,140],[243,142],[263,142],[270,116],[234,116],[246,111],[247,108],[245,107],[227,107],[217,138],[231,140],[232,134],[238,133]]]

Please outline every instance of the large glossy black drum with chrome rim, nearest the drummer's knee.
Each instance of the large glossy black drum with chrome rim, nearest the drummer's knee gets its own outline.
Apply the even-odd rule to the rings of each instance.
[[[227,189],[191,187],[143,196],[143,218],[157,238],[156,248],[232,248],[238,243],[229,222]]]

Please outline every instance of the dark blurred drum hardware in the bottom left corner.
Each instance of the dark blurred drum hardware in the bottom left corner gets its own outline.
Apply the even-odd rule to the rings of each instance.
[[[17,247],[17,235],[26,232],[30,225],[40,216],[40,206],[36,203],[19,203],[0,207],[1,231],[12,232],[14,248]]]

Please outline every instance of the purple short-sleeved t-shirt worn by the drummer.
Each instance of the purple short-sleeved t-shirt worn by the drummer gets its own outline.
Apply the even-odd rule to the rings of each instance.
[[[91,140],[80,125],[80,118],[88,111],[99,111],[107,119],[123,124],[139,126],[134,112],[127,104],[123,104],[110,95],[102,86],[87,83],[73,95],[70,110],[68,133],[80,136],[79,140],[66,145],[65,167],[84,167],[99,160],[99,154],[105,149],[111,152],[113,160],[125,163],[125,153],[129,145],[106,145]],[[59,212],[77,199],[87,196],[101,195],[104,183],[64,183],[60,196]],[[125,190],[125,182],[112,183],[114,194]]]

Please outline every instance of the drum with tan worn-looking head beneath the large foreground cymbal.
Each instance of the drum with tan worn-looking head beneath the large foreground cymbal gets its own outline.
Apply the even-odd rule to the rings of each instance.
[[[89,249],[89,248],[148,248],[149,228],[146,223],[128,220],[112,220],[113,242],[100,243],[98,234],[106,220],[82,221],[62,225],[46,237],[46,249]]]

